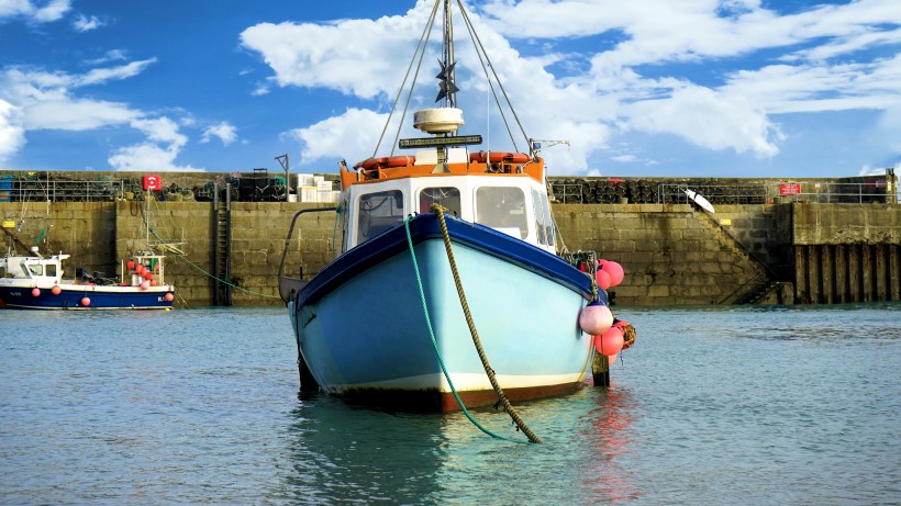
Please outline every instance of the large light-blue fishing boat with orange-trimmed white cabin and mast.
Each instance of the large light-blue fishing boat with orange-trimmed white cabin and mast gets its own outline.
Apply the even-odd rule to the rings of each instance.
[[[593,254],[557,254],[538,146],[470,151],[481,136],[458,134],[447,1],[444,13],[443,106],[413,117],[431,136],[400,140],[413,155],[340,164],[338,205],[290,224],[279,291],[302,389],[437,412],[561,395],[586,383],[594,336],[613,323]],[[340,255],[291,277],[298,220],[319,211],[338,211]],[[583,331],[596,313],[601,327]]]

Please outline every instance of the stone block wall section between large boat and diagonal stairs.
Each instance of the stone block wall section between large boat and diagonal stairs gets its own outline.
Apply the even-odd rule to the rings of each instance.
[[[594,250],[623,266],[625,279],[610,290],[618,305],[722,304],[761,279],[761,267],[688,205],[556,204],[552,211],[570,251]]]

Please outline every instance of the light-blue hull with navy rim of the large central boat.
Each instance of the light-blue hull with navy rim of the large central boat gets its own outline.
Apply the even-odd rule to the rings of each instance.
[[[459,409],[454,391],[467,407],[497,403],[436,222],[411,222],[434,344],[403,227],[338,258],[289,304],[302,366],[325,392],[407,411]],[[587,277],[504,234],[452,223],[471,318],[507,397],[580,387],[592,353],[578,327]]]

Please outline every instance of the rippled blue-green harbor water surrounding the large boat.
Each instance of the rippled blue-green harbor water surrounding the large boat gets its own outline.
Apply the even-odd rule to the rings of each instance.
[[[613,387],[519,445],[298,398],[280,308],[0,312],[0,503],[901,503],[901,305],[618,316]]]

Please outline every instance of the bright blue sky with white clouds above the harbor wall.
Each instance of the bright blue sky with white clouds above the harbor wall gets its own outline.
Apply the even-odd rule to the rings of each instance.
[[[331,173],[411,154],[394,138],[424,134],[399,90],[432,4],[0,0],[0,169],[281,173],[287,154],[291,172]],[[471,149],[545,140],[552,176],[839,178],[901,161],[899,0],[465,7],[526,134],[511,140],[489,105],[455,14],[459,133],[485,140]],[[440,58],[435,33],[409,111],[436,106]]]

